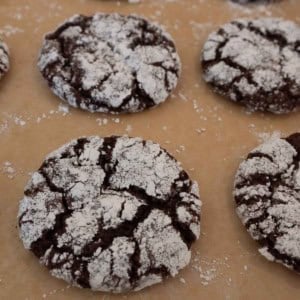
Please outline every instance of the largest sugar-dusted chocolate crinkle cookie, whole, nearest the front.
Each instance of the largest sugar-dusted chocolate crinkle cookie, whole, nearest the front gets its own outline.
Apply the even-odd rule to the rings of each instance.
[[[86,137],[51,153],[19,207],[19,232],[52,275],[97,291],[175,276],[200,234],[199,191],[158,144]]]

